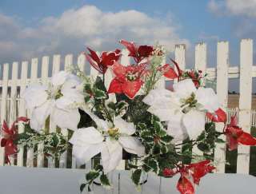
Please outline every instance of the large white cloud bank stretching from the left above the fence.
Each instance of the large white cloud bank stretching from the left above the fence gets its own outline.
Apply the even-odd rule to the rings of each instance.
[[[142,44],[158,41],[170,50],[177,43],[190,45],[179,38],[177,29],[170,18],[154,18],[136,10],[103,12],[96,6],[43,18],[36,27],[26,27],[0,14],[0,49],[5,49],[0,58],[10,61],[42,54],[78,53],[85,46],[114,49],[121,38]]]

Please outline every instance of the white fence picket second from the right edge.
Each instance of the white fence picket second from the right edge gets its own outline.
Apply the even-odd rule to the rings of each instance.
[[[218,42],[217,46],[217,95],[222,109],[226,110],[228,101],[228,70],[229,70],[229,43]],[[216,123],[216,130],[222,132],[223,123]],[[225,137],[222,137],[225,140]],[[214,160],[226,160],[226,145],[217,144],[214,149]],[[217,172],[225,172],[225,163],[218,163]]]

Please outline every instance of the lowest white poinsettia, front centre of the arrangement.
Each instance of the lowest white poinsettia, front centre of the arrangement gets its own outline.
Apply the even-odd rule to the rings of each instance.
[[[113,126],[89,110],[84,110],[94,120],[97,129],[94,127],[78,129],[70,139],[70,143],[74,146],[73,154],[81,164],[101,152],[102,166],[107,173],[114,170],[122,160],[122,148],[126,152],[144,156],[145,148],[141,141],[137,137],[132,137],[135,133],[133,123],[115,117]]]

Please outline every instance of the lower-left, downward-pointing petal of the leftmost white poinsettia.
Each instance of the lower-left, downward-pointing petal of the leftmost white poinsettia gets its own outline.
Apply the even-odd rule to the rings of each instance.
[[[46,101],[43,105],[34,109],[30,118],[30,127],[36,131],[44,129],[46,118],[50,115],[53,101]]]

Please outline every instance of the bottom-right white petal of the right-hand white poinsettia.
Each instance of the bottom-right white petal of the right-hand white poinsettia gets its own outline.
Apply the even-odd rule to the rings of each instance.
[[[195,140],[205,129],[206,114],[198,110],[190,110],[182,119],[190,139]]]

